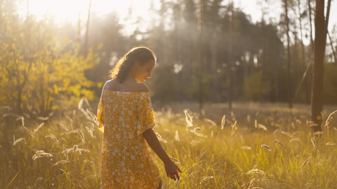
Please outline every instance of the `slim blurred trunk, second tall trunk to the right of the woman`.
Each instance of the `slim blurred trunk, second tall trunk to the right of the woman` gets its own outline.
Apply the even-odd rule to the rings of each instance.
[[[232,90],[233,90],[233,86],[232,86],[232,37],[233,37],[233,2],[229,3],[229,15],[228,15],[228,65],[227,65],[227,69],[228,69],[228,108],[229,110],[232,110]]]

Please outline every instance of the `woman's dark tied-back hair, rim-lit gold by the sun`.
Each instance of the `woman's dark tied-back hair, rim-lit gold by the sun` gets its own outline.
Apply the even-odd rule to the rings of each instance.
[[[133,47],[126,52],[118,61],[116,66],[110,70],[110,77],[117,78],[121,83],[123,82],[134,62],[139,61],[143,66],[146,62],[154,60],[157,61],[157,57],[152,50],[145,46]]]

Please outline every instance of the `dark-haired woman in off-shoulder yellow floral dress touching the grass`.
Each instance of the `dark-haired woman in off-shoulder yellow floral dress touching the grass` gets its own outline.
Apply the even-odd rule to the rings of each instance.
[[[130,49],[110,71],[97,109],[98,130],[103,133],[101,186],[104,189],[157,189],[159,169],[146,142],[163,161],[167,177],[180,179],[179,167],[160,145],[149,88],[155,54],[147,47]],[[138,82],[136,82],[137,80]],[[145,142],[146,140],[146,142]],[[176,178],[177,177],[177,178]]]

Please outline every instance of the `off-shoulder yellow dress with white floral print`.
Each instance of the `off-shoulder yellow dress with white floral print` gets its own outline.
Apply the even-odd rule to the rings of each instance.
[[[103,133],[101,188],[156,189],[159,169],[142,133],[155,130],[149,92],[102,90],[97,108]]]

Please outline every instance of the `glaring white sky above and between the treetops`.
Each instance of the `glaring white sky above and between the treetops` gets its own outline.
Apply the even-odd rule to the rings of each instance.
[[[23,0],[21,4],[21,13],[27,14],[27,1]],[[229,0],[224,0],[223,3],[227,4]],[[327,0],[325,0],[327,6]],[[92,0],[91,11],[96,14],[106,14],[111,11],[116,11],[120,16],[120,23],[125,25],[123,32],[131,34],[135,29],[131,23],[141,17],[145,21],[150,21],[153,15],[148,9],[150,8],[151,0]],[[153,0],[154,8],[159,9],[159,0]],[[235,0],[234,6],[240,7],[243,12],[251,15],[252,22],[261,21],[262,11],[261,5],[258,2],[265,2],[265,0]],[[272,17],[275,22],[279,21],[279,15],[283,12],[283,0],[268,0],[269,4],[264,4],[268,15]],[[307,0],[302,0],[306,3]],[[132,7],[132,17],[126,20],[129,12],[129,7]],[[44,14],[49,13],[54,15],[56,23],[62,21],[78,21],[79,11],[81,12],[81,20],[86,21],[88,15],[89,0],[29,0],[29,13],[37,16],[38,19],[43,19]],[[337,24],[337,1],[331,2],[330,17],[329,17],[329,31]],[[302,10],[303,11],[303,10]],[[290,15],[291,16],[291,15]],[[313,18],[312,18],[313,19]],[[306,21],[304,21],[306,22]],[[151,23],[151,22],[146,22]],[[147,27],[147,26],[145,26]]]

